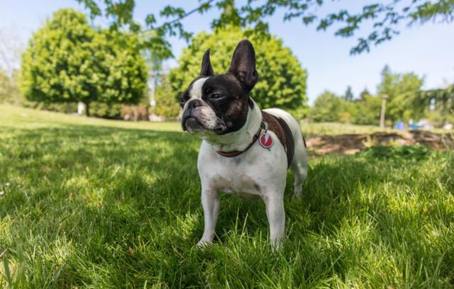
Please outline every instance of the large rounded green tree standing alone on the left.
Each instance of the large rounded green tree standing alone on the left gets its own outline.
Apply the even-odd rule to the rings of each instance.
[[[21,88],[30,101],[137,103],[147,70],[136,35],[96,31],[84,14],[62,9],[22,55]]]

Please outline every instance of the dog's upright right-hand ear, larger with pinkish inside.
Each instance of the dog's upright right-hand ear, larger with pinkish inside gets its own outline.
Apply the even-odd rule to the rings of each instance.
[[[241,40],[233,52],[228,73],[233,74],[243,86],[250,91],[258,81],[258,73],[255,70],[255,51],[253,44],[245,39]]]

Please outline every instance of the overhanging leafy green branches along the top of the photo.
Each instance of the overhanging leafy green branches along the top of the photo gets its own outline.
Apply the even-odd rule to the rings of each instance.
[[[90,11],[92,18],[104,16],[112,19],[111,27],[118,29],[128,27],[134,32],[140,31],[140,26],[133,19],[134,0],[101,1],[101,0],[77,0],[84,4]],[[411,26],[414,23],[447,22],[454,20],[454,0],[395,0],[376,1],[364,4],[358,11],[349,11],[341,8],[339,11],[319,16],[319,11],[326,10],[331,4],[328,0],[267,0],[267,1],[242,1],[242,6],[236,6],[234,0],[204,0],[195,4],[190,11],[182,7],[167,5],[160,16],[173,18],[158,24],[155,14],[145,16],[145,27],[153,31],[155,37],[150,38],[148,47],[161,57],[171,57],[170,44],[166,36],[178,35],[180,38],[189,40],[192,33],[184,29],[183,20],[193,13],[206,13],[215,8],[221,9],[222,13],[211,12],[206,17],[214,17],[211,27],[225,28],[228,25],[241,26],[242,28],[253,27],[257,34],[267,32],[270,16],[282,13],[283,21],[298,20],[303,25],[316,25],[317,30],[327,30],[336,27],[334,35],[350,38],[358,33],[362,27],[370,31],[365,37],[358,38],[358,44],[352,47],[350,54],[369,52],[371,45],[380,45],[382,42],[391,40],[399,34],[399,26],[402,22]],[[101,7],[104,7],[101,9]],[[325,9],[323,9],[325,8]]]

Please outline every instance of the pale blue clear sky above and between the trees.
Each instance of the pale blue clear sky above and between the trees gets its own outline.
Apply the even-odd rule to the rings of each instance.
[[[147,13],[158,13],[167,5],[183,6],[188,10],[198,3],[196,0],[149,1],[137,0],[134,16],[143,21]],[[237,1],[240,3],[241,1]],[[359,3],[361,2],[361,3]],[[335,1],[323,10],[324,15],[340,7],[360,9],[367,1]],[[53,11],[72,7],[84,11],[84,7],[75,0],[6,0],[1,5],[0,30],[13,31],[23,42],[27,42],[33,31],[37,30]],[[217,12],[211,12],[216,16]],[[212,16],[193,14],[184,20],[185,27],[192,32],[209,31]],[[401,34],[394,40],[372,47],[370,53],[350,56],[350,47],[356,38],[337,38],[333,30],[317,32],[314,26],[303,26],[299,21],[283,23],[282,13],[269,19],[271,33],[282,38],[284,45],[292,49],[302,66],[307,69],[307,94],[313,103],[316,96],[324,90],[343,94],[351,85],[353,93],[358,95],[367,87],[375,93],[380,81],[380,71],[385,64],[393,72],[415,72],[425,77],[425,89],[444,87],[454,83],[454,23],[426,23],[410,28],[402,25]],[[106,21],[101,21],[106,24]],[[361,34],[362,33],[362,34]],[[365,35],[366,30],[360,31]],[[179,57],[182,48],[187,45],[183,40],[171,38],[172,49]],[[168,67],[177,65],[176,60],[169,60]]]

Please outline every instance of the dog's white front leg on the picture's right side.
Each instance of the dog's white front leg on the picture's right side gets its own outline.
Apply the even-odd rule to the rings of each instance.
[[[285,232],[284,196],[265,196],[263,198],[270,223],[270,242],[273,250],[280,248]]]

